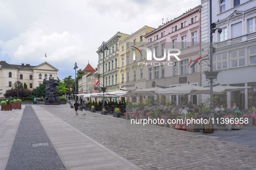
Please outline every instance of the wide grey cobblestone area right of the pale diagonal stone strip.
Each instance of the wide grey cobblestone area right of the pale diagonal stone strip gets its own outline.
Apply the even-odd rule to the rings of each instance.
[[[40,105],[142,169],[256,169],[256,148],[155,125],[71,109]],[[252,134],[255,135],[255,134]]]

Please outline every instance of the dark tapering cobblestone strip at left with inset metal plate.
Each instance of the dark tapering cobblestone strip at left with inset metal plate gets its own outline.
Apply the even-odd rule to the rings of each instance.
[[[25,169],[65,169],[31,106],[24,109],[6,165],[6,170]]]

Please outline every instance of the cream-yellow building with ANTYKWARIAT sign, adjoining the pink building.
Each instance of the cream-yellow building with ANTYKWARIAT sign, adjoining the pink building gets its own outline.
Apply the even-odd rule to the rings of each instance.
[[[155,28],[144,26],[123,41],[120,41],[118,56],[119,89],[146,88],[146,65],[139,66],[139,62],[145,63],[146,59],[143,50],[141,50],[142,55],[138,55],[133,49],[135,49],[134,47],[145,47],[145,38],[143,36],[153,30]],[[135,60],[133,60],[133,54],[135,55]],[[139,101],[137,97],[126,97],[125,100],[134,104]]]

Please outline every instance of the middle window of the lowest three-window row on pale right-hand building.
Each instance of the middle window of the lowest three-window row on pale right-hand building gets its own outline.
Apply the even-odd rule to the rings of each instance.
[[[231,67],[245,66],[245,50],[231,52]]]

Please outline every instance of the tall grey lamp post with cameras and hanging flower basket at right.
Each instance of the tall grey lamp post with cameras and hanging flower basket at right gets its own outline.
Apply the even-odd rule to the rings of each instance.
[[[213,33],[215,33],[216,30],[218,30],[218,33],[220,34],[222,32],[222,29],[220,28],[216,28],[216,24],[215,23],[212,23],[212,6],[211,6],[211,1],[210,0],[210,72],[213,72],[213,60],[212,60],[212,54],[213,52],[215,51],[215,48],[213,47],[213,44],[212,44],[212,38],[213,38]],[[211,103],[210,103],[210,112],[209,112],[209,116],[213,117],[214,118],[214,105],[213,105],[213,83],[214,83],[214,79],[217,79],[217,75],[216,75],[216,78],[214,77],[211,77],[211,78],[208,78],[209,82],[210,82],[210,99],[211,99]],[[215,119],[213,119],[214,121],[214,130],[217,130],[217,125],[216,125],[216,122],[215,122]]]

